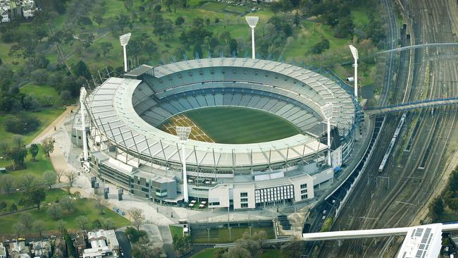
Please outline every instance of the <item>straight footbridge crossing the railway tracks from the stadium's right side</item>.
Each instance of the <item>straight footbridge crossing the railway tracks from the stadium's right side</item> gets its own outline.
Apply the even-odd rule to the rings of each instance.
[[[458,97],[425,99],[421,102],[407,102],[401,104],[393,104],[390,106],[380,106],[378,108],[364,109],[364,112],[369,114],[369,116],[375,116],[383,113],[408,111],[410,109],[423,109],[430,106],[446,106],[452,104],[458,104]]]

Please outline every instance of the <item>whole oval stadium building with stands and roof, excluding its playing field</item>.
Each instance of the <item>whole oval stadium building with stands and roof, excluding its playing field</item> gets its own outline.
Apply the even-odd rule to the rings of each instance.
[[[330,148],[325,105],[332,105]],[[268,112],[301,133],[259,143],[183,143],[159,129],[186,111],[215,106]],[[314,186],[333,180],[336,168],[351,159],[354,144],[354,99],[322,75],[275,61],[212,58],[143,65],[89,91],[83,108],[90,171],[158,203],[181,204],[184,185],[190,199],[206,200],[210,208],[304,202],[314,198]],[[80,121],[75,116],[76,145],[82,145]]]

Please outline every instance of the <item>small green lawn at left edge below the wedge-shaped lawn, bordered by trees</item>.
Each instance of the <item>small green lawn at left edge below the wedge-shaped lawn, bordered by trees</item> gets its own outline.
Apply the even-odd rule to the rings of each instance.
[[[30,154],[27,154],[27,157],[25,158],[25,166],[27,166],[27,168],[18,171],[8,171],[6,174],[0,174],[0,180],[1,177],[4,175],[11,175],[14,178],[16,178],[16,180],[19,180],[21,176],[26,174],[32,174],[33,176],[35,176],[35,178],[41,179],[42,173],[44,173],[44,171],[54,171],[54,167],[52,166],[49,158],[47,158],[44,155],[44,151],[41,145],[39,146],[39,151],[36,160],[37,161],[32,161],[32,156],[30,156]],[[12,166],[12,164],[13,161],[11,160],[0,160],[0,167],[8,167]]]

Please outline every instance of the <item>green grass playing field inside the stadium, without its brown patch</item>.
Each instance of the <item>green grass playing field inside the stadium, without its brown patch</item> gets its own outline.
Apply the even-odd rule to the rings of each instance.
[[[254,109],[210,107],[184,114],[218,143],[268,142],[300,133],[285,119]]]

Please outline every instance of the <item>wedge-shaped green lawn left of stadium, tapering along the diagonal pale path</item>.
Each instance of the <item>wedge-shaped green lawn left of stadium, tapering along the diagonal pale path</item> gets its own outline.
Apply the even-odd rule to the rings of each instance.
[[[25,143],[27,144],[30,143],[35,137],[37,137],[37,135],[39,135],[39,133],[42,132],[42,130],[44,130],[44,128],[47,128],[47,126],[52,121],[56,120],[56,118],[60,116],[64,110],[65,109],[63,108],[50,108],[50,109],[44,109],[44,110],[37,111],[37,112],[27,112],[28,114],[30,114],[30,116],[35,116],[36,118],[38,118],[41,124],[39,125],[39,128],[35,132],[27,133],[26,135],[23,135]],[[14,134],[6,132],[3,126],[4,121],[6,121],[6,119],[10,118],[11,116],[12,115],[10,114],[0,115],[0,135],[1,135],[0,140],[2,141],[11,142],[13,138]]]

